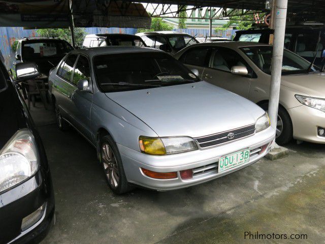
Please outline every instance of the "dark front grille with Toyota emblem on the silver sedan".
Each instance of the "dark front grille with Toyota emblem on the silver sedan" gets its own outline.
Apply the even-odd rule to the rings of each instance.
[[[228,134],[234,133],[234,138],[229,139]],[[220,132],[218,134],[204,136],[195,138],[195,140],[199,143],[201,148],[208,146],[215,146],[225,142],[230,142],[233,140],[237,140],[246,136],[253,135],[255,133],[255,125],[245,126],[239,129],[234,129],[230,131]]]

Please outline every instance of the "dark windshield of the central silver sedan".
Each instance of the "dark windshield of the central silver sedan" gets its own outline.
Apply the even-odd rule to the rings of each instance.
[[[199,81],[166,53],[103,54],[95,56],[93,62],[97,84],[104,93]]]

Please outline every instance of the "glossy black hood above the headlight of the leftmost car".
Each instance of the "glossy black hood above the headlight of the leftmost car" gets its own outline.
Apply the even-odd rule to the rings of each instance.
[[[29,127],[19,95],[11,81],[7,83],[0,92],[0,150],[18,130]]]

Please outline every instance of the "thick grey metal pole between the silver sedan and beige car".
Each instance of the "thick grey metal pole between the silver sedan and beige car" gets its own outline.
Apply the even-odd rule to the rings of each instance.
[[[269,116],[271,120],[271,126],[275,129],[277,123],[278,106],[279,106],[287,4],[288,4],[288,0],[276,0],[275,9],[272,10],[272,15],[275,16],[274,16],[274,41],[273,41],[272,66],[271,66]]]

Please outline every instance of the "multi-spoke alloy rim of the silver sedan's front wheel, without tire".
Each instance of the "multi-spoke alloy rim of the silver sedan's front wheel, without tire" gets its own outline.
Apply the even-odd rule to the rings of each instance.
[[[108,143],[103,143],[101,156],[107,180],[112,188],[117,188],[119,171],[113,149]]]

